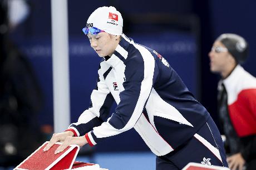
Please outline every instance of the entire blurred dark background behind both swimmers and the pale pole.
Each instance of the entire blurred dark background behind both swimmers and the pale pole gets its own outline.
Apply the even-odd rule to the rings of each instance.
[[[13,168],[53,133],[51,1],[0,2],[0,167]],[[222,33],[242,35],[250,47],[243,66],[256,76],[256,1],[67,2],[71,122],[89,106],[97,80],[100,58],[82,28],[101,6],[116,7],[126,36],[169,61],[217,125],[219,77],[210,73],[208,58],[214,40]],[[111,170],[155,169],[154,154],[134,130],[81,148],[78,159]]]

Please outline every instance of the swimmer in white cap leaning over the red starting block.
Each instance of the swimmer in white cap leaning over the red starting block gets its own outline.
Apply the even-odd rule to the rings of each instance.
[[[189,162],[227,167],[208,111],[163,56],[126,37],[122,26],[114,7],[100,7],[88,18],[83,32],[102,58],[97,87],[90,107],[66,132],[53,134],[44,151],[57,141],[63,143],[55,154],[71,144],[94,146],[135,128],[156,154],[157,170],[182,169]],[[109,116],[114,101],[117,107]]]

